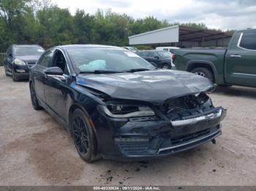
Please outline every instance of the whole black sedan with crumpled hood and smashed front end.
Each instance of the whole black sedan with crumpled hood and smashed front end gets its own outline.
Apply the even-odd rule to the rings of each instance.
[[[148,160],[215,141],[226,111],[214,85],[185,71],[156,69],[120,47],[66,45],[30,69],[34,109],[46,109],[91,162]]]

